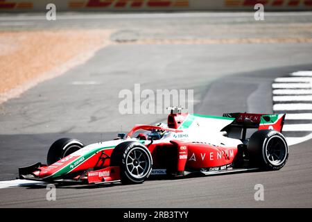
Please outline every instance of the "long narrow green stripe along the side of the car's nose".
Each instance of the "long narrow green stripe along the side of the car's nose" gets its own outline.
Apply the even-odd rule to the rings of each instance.
[[[88,153],[85,153],[84,155],[82,155],[81,157],[77,158],[76,160],[73,160],[70,164],[67,164],[62,169],[60,169],[59,171],[56,171],[55,173],[53,173],[53,175],[51,175],[51,176],[49,176],[47,178],[50,178],[50,177],[51,178],[56,178],[58,176],[62,176],[65,173],[69,173],[70,171],[72,171],[73,169],[78,167],[80,164],[85,162],[87,159],[92,157],[94,154],[96,154],[98,151],[103,151],[103,150],[106,150],[108,148],[114,148],[114,147],[115,146],[107,146],[107,147],[96,148],[96,149],[94,149],[92,151],[89,151]],[[75,162],[78,162],[78,164],[76,164],[76,166],[73,165]],[[71,167],[71,165],[72,165],[72,167]]]

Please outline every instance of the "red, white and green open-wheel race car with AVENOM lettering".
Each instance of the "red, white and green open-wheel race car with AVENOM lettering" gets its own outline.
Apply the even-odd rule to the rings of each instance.
[[[54,142],[47,165],[19,168],[19,177],[49,182],[137,184],[150,175],[180,177],[279,170],[288,159],[281,134],[286,114],[184,114],[171,108],[168,123],[136,125],[112,141],[84,146]],[[250,130],[252,135],[248,137]]]

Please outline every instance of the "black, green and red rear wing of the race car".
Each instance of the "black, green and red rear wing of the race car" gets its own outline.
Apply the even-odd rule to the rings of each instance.
[[[224,113],[223,117],[232,117],[231,126],[246,128],[258,128],[258,130],[277,130],[281,133],[286,114],[256,114],[247,112]]]

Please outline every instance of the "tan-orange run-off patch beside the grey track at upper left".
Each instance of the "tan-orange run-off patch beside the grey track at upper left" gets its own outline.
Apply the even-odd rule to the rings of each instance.
[[[0,103],[79,65],[107,45],[112,31],[3,31]]]

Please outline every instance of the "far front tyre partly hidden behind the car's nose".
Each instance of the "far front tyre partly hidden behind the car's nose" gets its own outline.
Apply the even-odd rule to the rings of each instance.
[[[58,139],[50,146],[48,155],[46,156],[46,162],[48,165],[51,165],[83,147],[83,143],[78,139]]]

